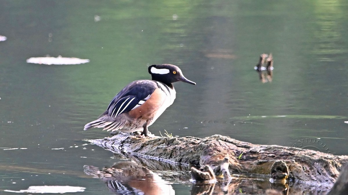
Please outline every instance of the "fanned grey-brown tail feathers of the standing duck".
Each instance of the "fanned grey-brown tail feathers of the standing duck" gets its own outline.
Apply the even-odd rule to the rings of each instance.
[[[84,130],[90,128],[103,128],[106,131],[116,131],[122,128],[125,125],[125,122],[121,122],[119,120],[115,120],[111,117],[102,117],[97,120],[94,120],[90,123],[87,123],[84,127]]]

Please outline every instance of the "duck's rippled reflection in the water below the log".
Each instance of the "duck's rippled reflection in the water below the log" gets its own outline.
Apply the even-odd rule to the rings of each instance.
[[[105,181],[117,195],[174,195],[173,187],[156,173],[132,161],[115,163],[99,169],[85,165],[84,172]]]

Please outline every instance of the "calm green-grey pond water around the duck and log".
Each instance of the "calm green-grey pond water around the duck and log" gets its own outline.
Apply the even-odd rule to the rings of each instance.
[[[120,161],[83,146],[109,134],[83,126],[160,63],[178,65],[197,85],[175,83],[174,104],[149,128],[156,135],[282,146],[321,138],[347,155],[346,10],[343,0],[0,0],[0,190],[69,185],[86,187],[76,194],[115,194],[83,168]],[[262,83],[253,67],[270,52],[272,81]],[[46,55],[90,62],[26,63]],[[175,194],[191,194],[189,181],[171,182]]]

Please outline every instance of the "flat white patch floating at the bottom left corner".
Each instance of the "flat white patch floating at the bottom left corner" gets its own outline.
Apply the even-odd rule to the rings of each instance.
[[[71,192],[84,192],[86,188],[77,186],[30,186],[28,189],[15,190],[3,190],[4,192],[14,193],[71,193]]]

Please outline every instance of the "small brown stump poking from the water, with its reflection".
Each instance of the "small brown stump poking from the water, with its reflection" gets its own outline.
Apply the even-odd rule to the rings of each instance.
[[[272,53],[261,54],[258,64],[254,69],[259,73],[259,78],[262,83],[272,81],[273,77],[273,55]]]

